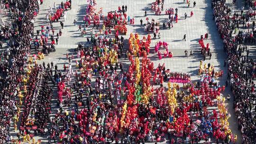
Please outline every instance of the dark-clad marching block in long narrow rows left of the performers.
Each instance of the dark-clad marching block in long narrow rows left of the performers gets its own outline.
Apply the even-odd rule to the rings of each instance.
[[[50,80],[48,68],[46,69],[42,65],[38,66],[36,64],[27,76],[29,77],[29,81],[26,81],[24,84],[28,86],[24,85],[25,90],[23,89],[22,91],[23,95],[26,96],[24,99],[25,107],[22,111],[19,127],[19,132],[23,135],[29,135],[29,130],[33,126],[36,126],[33,129],[34,131],[38,131],[38,133],[41,133],[46,128],[53,96],[53,91],[48,86],[48,81]],[[18,114],[16,118],[19,119]]]

